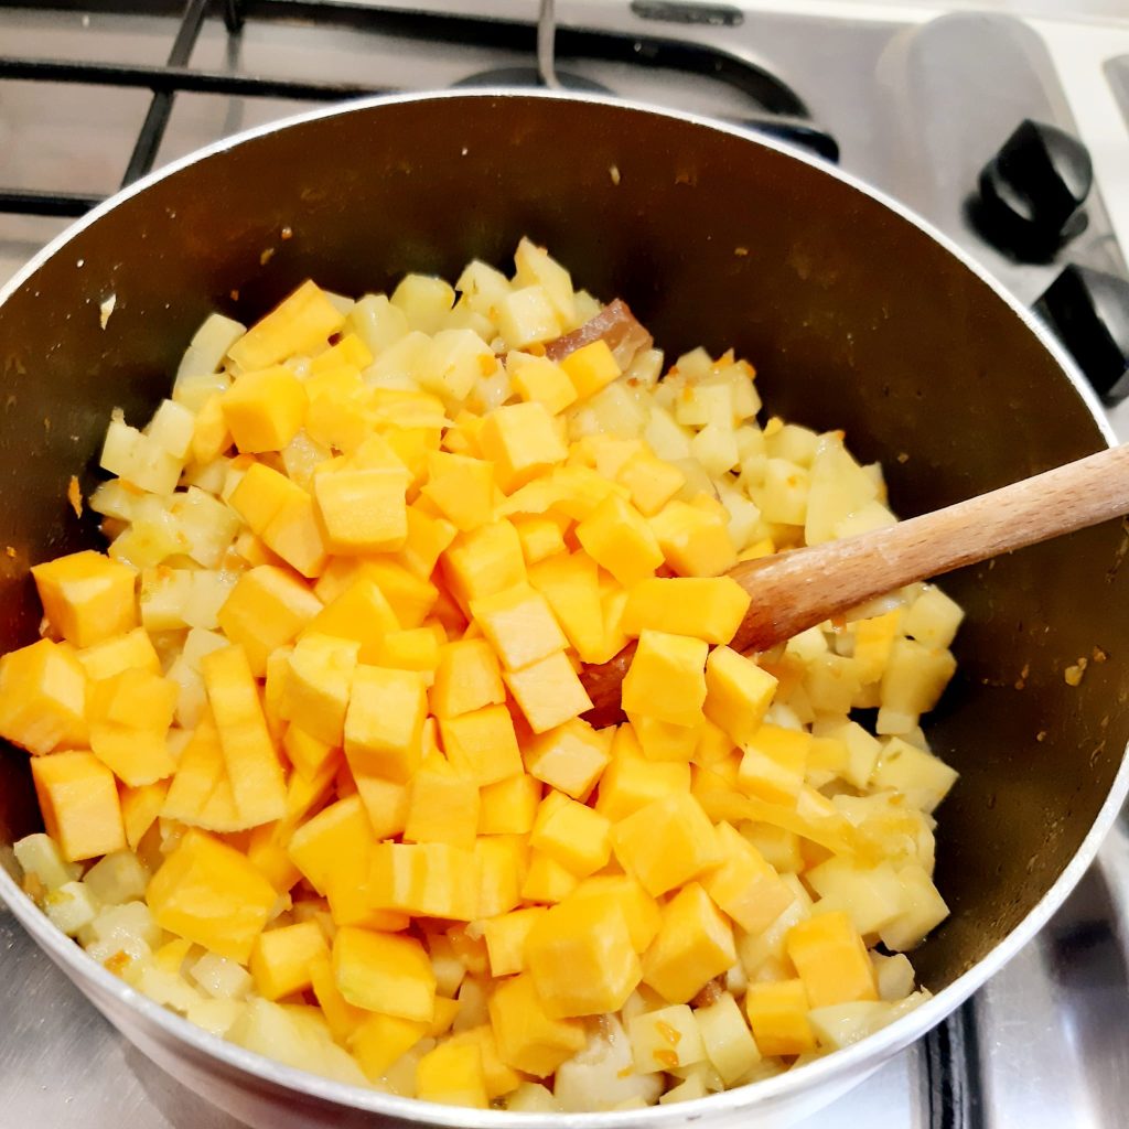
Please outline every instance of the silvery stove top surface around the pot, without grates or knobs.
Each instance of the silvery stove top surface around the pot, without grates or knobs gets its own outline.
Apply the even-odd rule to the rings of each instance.
[[[739,26],[660,24],[633,15],[628,0],[558,0],[557,7],[564,29],[676,37],[785,75],[815,121],[837,137],[844,168],[920,211],[1024,301],[1034,301],[1070,259],[1126,274],[1119,245],[1129,248],[1129,129],[1108,64],[1118,56],[1129,60],[1127,0],[989,0],[944,8],[850,0],[718,5],[741,15]],[[390,7],[365,0],[358,6]],[[425,12],[467,8],[458,0],[414,0],[411,7]],[[473,7],[520,20],[532,19],[535,9],[533,0],[475,0]],[[175,3],[123,0],[91,2],[94,8],[87,15],[0,8],[0,56],[165,60],[175,20],[151,12],[173,12]],[[114,15],[115,8],[131,14]],[[218,18],[210,18],[190,65],[217,73],[428,88],[530,61],[505,50],[426,37],[408,40],[406,46],[394,36],[356,28],[255,20],[233,40]],[[729,117],[752,110],[746,96],[701,77],[572,58],[559,64],[644,100]],[[0,59],[0,193],[114,191],[148,91],[2,80],[2,68]],[[309,103],[181,94],[157,163],[304,105]],[[1095,170],[1089,227],[1060,261],[1040,266],[1000,255],[970,228],[963,211],[979,168],[1026,116],[1075,132]],[[64,226],[60,219],[0,212],[0,280]],[[1129,438],[1129,401],[1112,419]],[[1129,831],[1122,823],[1099,865],[1036,942],[953,1021],[804,1129],[1123,1126],[1129,1108],[1127,900]],[[184,1091],[117,1036],[2,907],[0,978],[0,1124],[234,1129],[235,1122],[205,1097]]]

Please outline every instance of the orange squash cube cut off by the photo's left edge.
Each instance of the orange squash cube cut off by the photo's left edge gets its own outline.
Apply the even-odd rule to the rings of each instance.
[[[88,741],[87,676],[75,651],[41,639],[0,658],[0,736],[42,755]]]

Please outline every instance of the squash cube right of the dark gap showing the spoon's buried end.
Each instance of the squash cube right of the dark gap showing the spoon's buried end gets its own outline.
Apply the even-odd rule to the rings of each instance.
[[[623,679],[623,711],[668,725],[695,726],[706,701],[706,656],[702,639],[644,631]]]

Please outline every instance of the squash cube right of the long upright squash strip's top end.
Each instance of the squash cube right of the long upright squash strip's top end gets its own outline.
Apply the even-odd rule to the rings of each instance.
[[[327,745],[341,745],[360,644],[307,631],[290,653],[279,715]]]

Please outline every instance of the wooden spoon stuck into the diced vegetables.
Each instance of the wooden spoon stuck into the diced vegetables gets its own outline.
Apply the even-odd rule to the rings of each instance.
[[[744,561],[729,576],[752,596],[732,646],[760,651],[903,585],[1129,513],[1129,445],[842,541]],[[620,715],[634,644],[580,680],[589,720]]]

